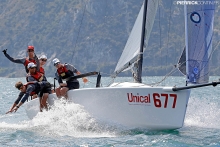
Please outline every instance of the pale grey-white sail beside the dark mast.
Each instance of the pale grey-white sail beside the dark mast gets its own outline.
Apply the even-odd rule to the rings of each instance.
[[[153,27],[153,23],[158,7],[158,1],[159,0],[149,0],[147,2],[147,17],[146,17],[146,26],[145,26],[146,31],[145,31],[145,41],[144,41],[145,48],[148,44],[150,33]],[[143,10],[144,10],[144,4],[141,7],[141,10],[135,21],[131,34],[123,50],[123,53],[115,68],[114,76],[116,76],[120,72],[125,71],[127,68],[132,66],[133,63],[138,60],[137,59],[138,55],[143,54],[140,52]]]

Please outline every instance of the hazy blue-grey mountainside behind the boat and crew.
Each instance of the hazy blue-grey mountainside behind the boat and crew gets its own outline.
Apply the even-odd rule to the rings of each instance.
[[[109,76],[125,46],[142,0],[1,0],[1,50],[15,58],[26,56],[34,45],[39,56],[46,54],[47,76],[55,68],[51,60],[73,64],[79,71],[100,71]],[[219,75],[220,5],[216,8],[212,75]],[[177,63],[184,47],[183,6],[162,0],[149,46],[144,55],[143,75],[165,75]],[[23,65],[0,54],[0,76],[25,76]],[[126,73],[130,74],[130,73]],[[175,75],[180,75],[175,74]]]

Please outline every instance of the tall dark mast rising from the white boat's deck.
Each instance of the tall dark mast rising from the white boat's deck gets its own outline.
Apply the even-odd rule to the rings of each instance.
[[[137,78],[135,82],[142,83],[142,63],[143,63],[143,50],[144,50],[144,39],[145,39],[145,26],[146,26],[146,16],[147,16],[147,4],[148,0],[144,1],[144,10],[143,10],[143,22],[142,22],[142,34],[141,34],[141,44],[140,52],[138,55],[138,69],[137,69]]]

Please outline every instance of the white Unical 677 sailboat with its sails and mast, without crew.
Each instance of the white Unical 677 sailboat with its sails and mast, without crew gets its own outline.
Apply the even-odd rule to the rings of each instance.
[[[113,77],[116,77],[125,70],[132,70],[133,82],[112,83],[108,87],[68,91],[69,100],[82,105],[95,119],[128,128],[178,129],[184,124],[191,88],[219,84],[218,82],[206,83],[212,44],[214,7],[207,8],[205,5],[193,6],[194,8],[190,6],[192,11],[185,6],[186,47],[178,67],[186,75],[187,86],[153,87],[142,83],[143,53],[147,48],[158,3],[159,0],[144,0],[113,73]],[[198,26],[197,30],[193,25]],[[189,31],[192,30],[197,33],[190,33]],[[192,35],[197,38],[199,36],[199,41],[193,40]],[[196,49],[202,50],[199,55],[191,56],[195,42],[198,42]],[[197,51],[194,49],[192,52]],[[196,85],[188,85],[190,83]],[[51,95],[49,103],[52,103],[55,97]],[[28,107],[29,104],[30,102],[26,103],[26,108],[31,108]],[[28,113],[29,110],[26,110]]]

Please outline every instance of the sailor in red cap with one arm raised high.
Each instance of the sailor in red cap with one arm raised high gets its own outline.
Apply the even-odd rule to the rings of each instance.
[[[4,53],[5,57],[7,57],[11,62],[23,64],[25,66],[25,70],[27,73],[28,73],[28,69],[27,69],[28,63],[33,62],[33,63],[39,65],[39,60],[34,53],[34,46],[27,47],[28,57],[26,57],[26,58],[20,58],[20,59],[12,58],[11,56],[9,56],[7,54],[7,49],[3,50],[2,52]],[[37,69],[37,70],[39,70],[39,69]]]

